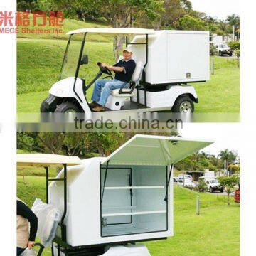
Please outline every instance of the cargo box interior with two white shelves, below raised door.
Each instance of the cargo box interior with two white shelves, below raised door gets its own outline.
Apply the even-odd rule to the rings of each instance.
[[[108,166],[105,174],[101,166],[102,237],[167,230],[166,166]]]

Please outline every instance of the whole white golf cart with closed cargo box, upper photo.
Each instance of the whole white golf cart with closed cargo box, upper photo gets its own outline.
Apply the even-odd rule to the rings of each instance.
[[[209,79],[209,32],[143,28],[82,28],[68,32],[70,38],[59,81],[42,102],[41,112],[92,112],[87,90],[102,74],[112,78],[112,73],[98,62],[99,73],[86,84],[80,69],[81,65],[88,64],[85,54],[87,34],[125,36],[126,46],[132,49],[132,58],[137,63],[129,88],[112,90],[105,105],[107,111],[193,112],[193,103],[198,102],[198,96],[188,82]],[[78,43],[79,47],[75,47]],[[76,58],[75,62],[72,58]],[[99,55],[97,61],[100,60],[104,60],[104,56]]]

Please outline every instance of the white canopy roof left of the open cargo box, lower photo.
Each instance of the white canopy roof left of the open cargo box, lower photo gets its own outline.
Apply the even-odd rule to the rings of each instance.
[[[17,166],[73,166],[82,164],[78,156],[62,156],[57,154],[17,154]]]

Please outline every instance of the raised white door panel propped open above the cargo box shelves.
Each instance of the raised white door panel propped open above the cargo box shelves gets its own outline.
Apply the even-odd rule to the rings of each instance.
[[[203,140],[137,134],[102,164],[168,166],[212,144]]]

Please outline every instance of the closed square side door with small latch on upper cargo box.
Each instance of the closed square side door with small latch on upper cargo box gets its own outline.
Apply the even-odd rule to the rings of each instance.
[[[209,75],[207,33],[167,33],[167,80],[201,81]]]

